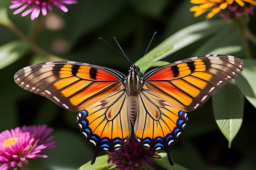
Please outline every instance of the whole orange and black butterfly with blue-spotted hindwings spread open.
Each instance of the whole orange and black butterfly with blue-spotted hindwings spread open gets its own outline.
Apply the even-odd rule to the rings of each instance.
[[[141,77],[132,64],[128,76],[81,62],[45,62],[22,68],[16,84],[77,111],[77,124],[96,160],[101,150],[123,148],[131,135],[140,146],[164,150],[177,143],[187,124],[186,112],[204,104],[214,92],[243,71],[231,55],[202,55],[159,66]]]

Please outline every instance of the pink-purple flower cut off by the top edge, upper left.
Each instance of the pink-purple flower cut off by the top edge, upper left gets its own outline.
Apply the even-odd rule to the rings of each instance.
[[[31,13],[31,20],[34,20],[35,18],[38,18],[40,12],[43,15],[47,14],[47,9],[49,11],[52,11],[52,5],[58,7],[63,12],[67,12],[68,9],[63,4],[77,4],[77,0],[12,0],[10,9],[16,9],[16,11],[13,12],[13,15],[16,15],[18,13],[21,13],[22,11],[25,11],[21,14],[22,17],[25,17]]]

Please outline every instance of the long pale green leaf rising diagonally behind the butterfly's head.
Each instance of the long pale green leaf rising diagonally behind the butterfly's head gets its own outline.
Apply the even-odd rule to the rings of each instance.
[[[192,44],[202,38],[209,36],[210,34],[215,33],[223,25],[223,22],[220,20],[213,21],[203,21],[196,24],[187,26],[180,31],[177,31],[153,50],[149,51],[144,55],[143,59],[139,59],[135,62],[135,65],[154,62],[163,59],[164,57]]]

